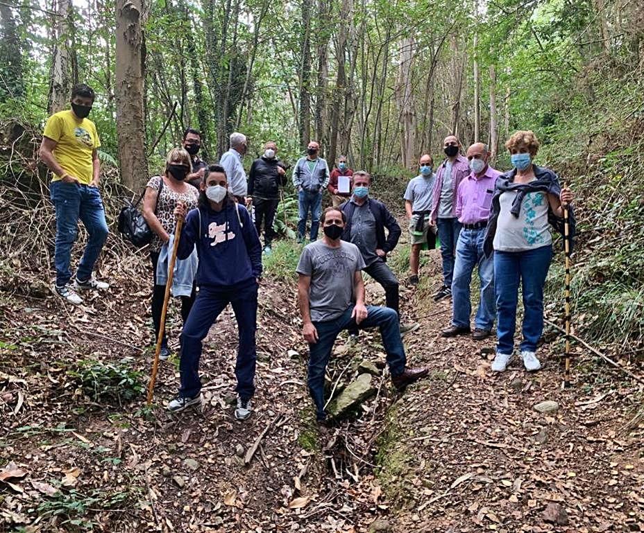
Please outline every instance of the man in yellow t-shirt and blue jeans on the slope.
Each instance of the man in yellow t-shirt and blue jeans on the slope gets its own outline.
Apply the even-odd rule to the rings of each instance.
[[[49,117],[40,145],[40,159],[53,173],[49,193],[56,208],[56,292],[76,305],[83,303],[78,292],[109,288],[108,283],[92,277],[94,264],[108,237],[99,191],[101,164],[96,152],[101,141],[96,126],[87,119],[95,97],[89,85],[74,85],[71,110]],[[89,237],[72,284],[69,263],[79,218]]]

